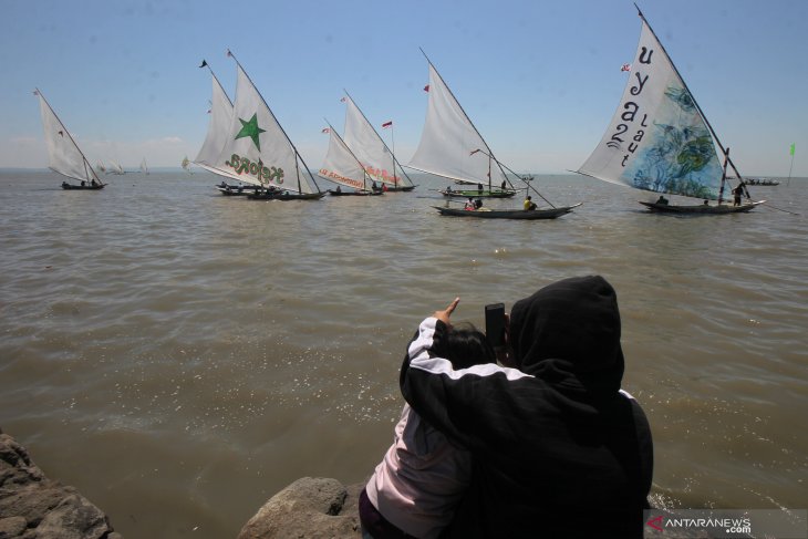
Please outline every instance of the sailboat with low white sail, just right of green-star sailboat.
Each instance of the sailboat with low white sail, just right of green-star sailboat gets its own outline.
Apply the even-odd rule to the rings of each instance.
[[[318,176],[336,184],[336,189],[329,189],[329,193],[332,196],[382,195],[384,191],[371,179],[359,157],[351,152],[336,129],[329,124],[323,131],[329,134],[329,151]],[[350,187],[351,190],[343,191],[342,186]]]

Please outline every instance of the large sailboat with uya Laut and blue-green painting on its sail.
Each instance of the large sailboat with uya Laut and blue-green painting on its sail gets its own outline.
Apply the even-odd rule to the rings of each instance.
[[[765,200],[750,201],[744,178],[729,158],[729,148],[718,141],[639,8],[638,13],[642,31],[634,63],[626,66],[629,82],[609,128],[578,173],[642,190],[700,199],[698,204],[675,205],[660,195],[655,201],[640,201],[652,211],[734,214],[763,204]],[[729,184],[728,166],[739,182],[732,189],[733,206],[723,204]],[[740,203],[742,194],[748,201]],[[716,199],[717,205],[709,204]]]

